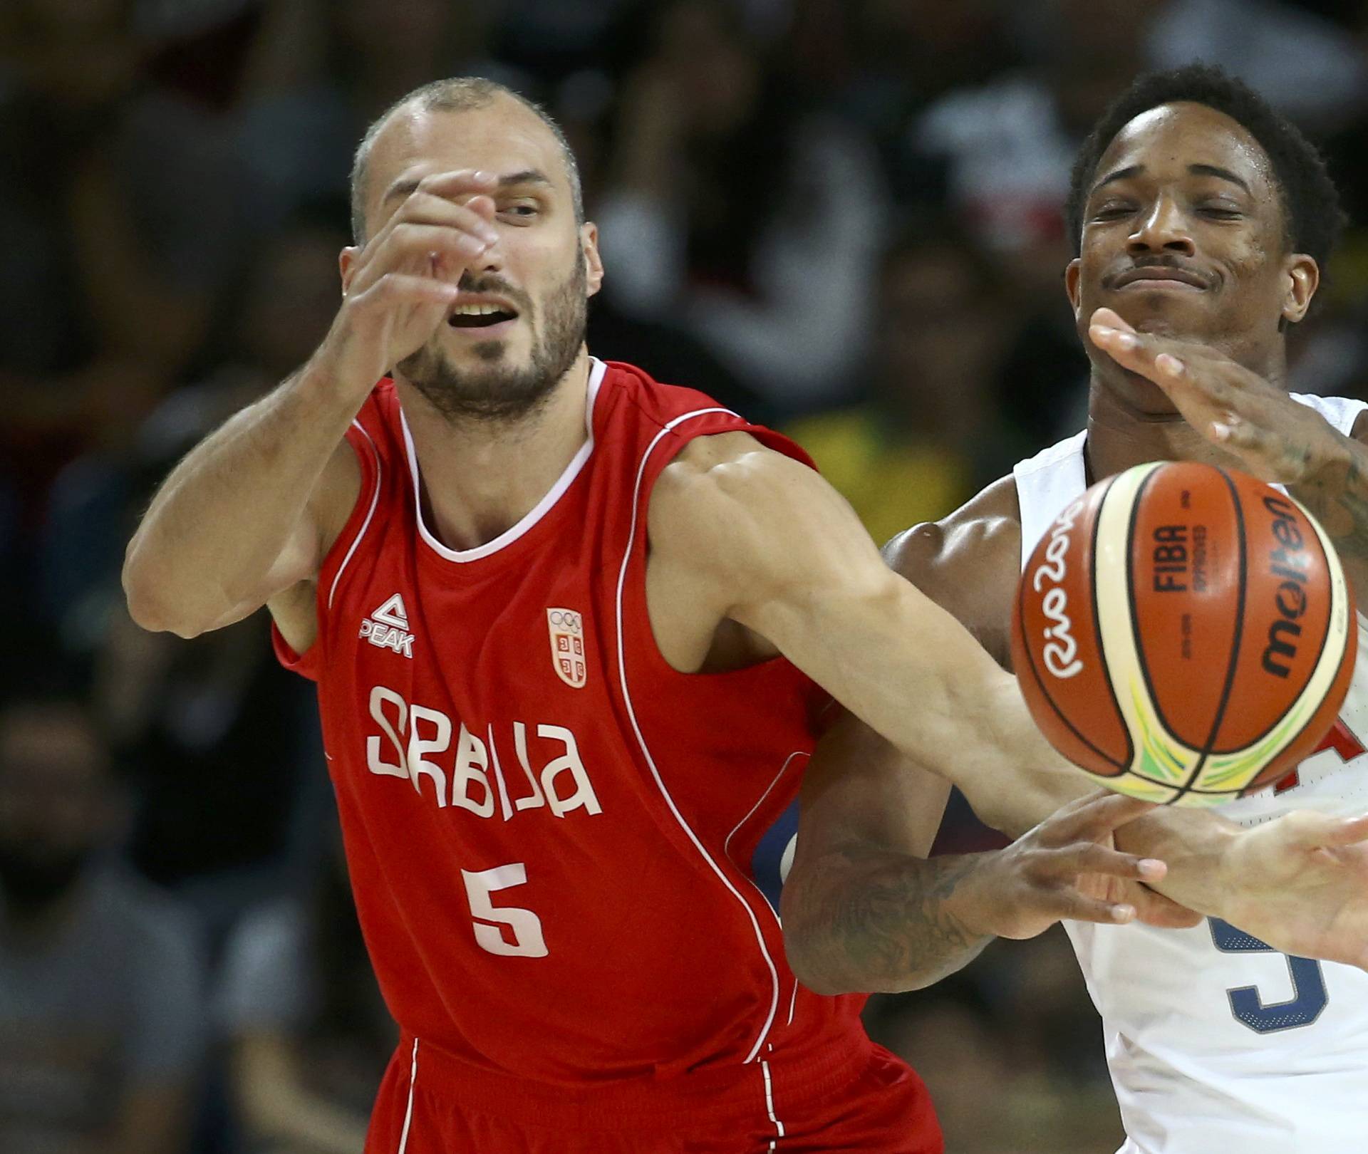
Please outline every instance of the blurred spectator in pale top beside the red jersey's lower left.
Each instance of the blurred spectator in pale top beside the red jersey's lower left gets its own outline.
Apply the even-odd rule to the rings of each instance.
[[[224,953],[219,1015],[253,1154],[357,1154],[398,1039],[341,846],[313,891],[250,911]]]

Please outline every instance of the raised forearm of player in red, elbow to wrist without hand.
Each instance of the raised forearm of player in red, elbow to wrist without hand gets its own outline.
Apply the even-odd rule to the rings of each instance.
[[[264,602],[263,582],[358,403],[306,368],[192,450],[129,543],[134,619],[193,636]]]

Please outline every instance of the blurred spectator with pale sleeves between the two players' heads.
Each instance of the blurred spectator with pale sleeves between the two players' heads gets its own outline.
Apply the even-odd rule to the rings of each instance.
[[[780,412],[841,398],[885,217],[873,155],[767,66],[735,4],[651,14],[594,211],[605,293],[692,330]]]

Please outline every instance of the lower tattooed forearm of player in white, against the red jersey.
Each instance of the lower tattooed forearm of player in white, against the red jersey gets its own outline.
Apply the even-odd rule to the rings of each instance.
[[[970,928],[970,879],[984,855],[829,855],[784,887],[788,961],[819,994],[930,986],[973,961],[990,935]]]

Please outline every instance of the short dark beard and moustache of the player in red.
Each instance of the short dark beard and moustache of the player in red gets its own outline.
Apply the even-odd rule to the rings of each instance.
[[[521,317],[536,320],[532,302],[498,278],[466,280],[461,286],[472,293],[502,293],[521,305]],[[588,313],[586,264],[583,254],[565,282],[546,297],[540,317],[540,338],[524,368],[502,364],[508,357],[503,340],[482,340],[475,355],[487,369],[458,369],[434,339],[405,357],[397,368],[443,417],[460,421],[513,421],[539,409],[555,383],[565,376],[584,343]]]

